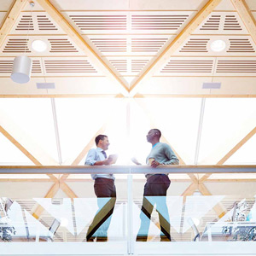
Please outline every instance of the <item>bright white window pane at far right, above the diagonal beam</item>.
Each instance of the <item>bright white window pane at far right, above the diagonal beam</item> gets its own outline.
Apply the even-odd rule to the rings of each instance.
[[[205,106],[199,164],[215,165],[256,126],[256,100],[207,98]]]

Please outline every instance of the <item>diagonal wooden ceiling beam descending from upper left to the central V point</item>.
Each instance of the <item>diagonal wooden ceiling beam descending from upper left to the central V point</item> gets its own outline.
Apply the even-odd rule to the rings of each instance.
[[[114,73],[113,70],[108,67],[108,65],[102,60],[102,58],[96,54],[94,49],[90,47],[89,44],[84,40],[84,38],[77,32],[73,26],[70,25],[69,21],[61,15],[55,6],[49,2],[49,0],[37,0],[37,2],[42,6],[42,8],[55,20],[56,24],[61,27],[61,29],[67,33],[67,36],[72,39],[72,41],[79,46],[79,48],[84,51],[85,55],[88,55],[90,60],[98,67],[102,73],[104,73],[109,79],[111,79],[114,84],[118,84],[120,92],[123,95],[128,96],[128,85],[124,79],[121,79],[118,74]]]

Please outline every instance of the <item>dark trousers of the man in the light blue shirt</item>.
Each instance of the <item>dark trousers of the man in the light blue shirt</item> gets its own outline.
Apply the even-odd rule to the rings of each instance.
[[[94,183],[94,191],[97,196],[98,211],[87,231],[86,240],[91,241],[96,237],[99,241],[107,241],[108,227],[116,201],[113,179],[97,177]]]

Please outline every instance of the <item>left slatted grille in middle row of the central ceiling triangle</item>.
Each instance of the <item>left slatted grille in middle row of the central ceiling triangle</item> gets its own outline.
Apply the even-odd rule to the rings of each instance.
[[[126,38],[91,38],[96,48],[103,52],[126,52]]]

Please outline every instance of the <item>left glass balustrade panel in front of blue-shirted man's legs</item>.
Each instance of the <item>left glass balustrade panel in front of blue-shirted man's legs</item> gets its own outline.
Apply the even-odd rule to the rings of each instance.
[[[96,247],[96,243],[104,241],[117,246],[112,248],[113,254],[127,252],[125,174],[115,174],[114,181],[93,181],[90,174],[73,174],[67,178],[68,187],[48,192],[54,198],[44,198],[53,185],[45,177],[42,183],[44,175],[33,174],[30,181],[26,175],[18,183],[12,183],[14,174],[9,174],[8,181],[6,174],[0,175],[0,241],[80,241],[87,247],[94,245],[94,253],[100,254],[106,249]],[[68,198],[63,194],[70,193],[70,189],[79,197]]]

